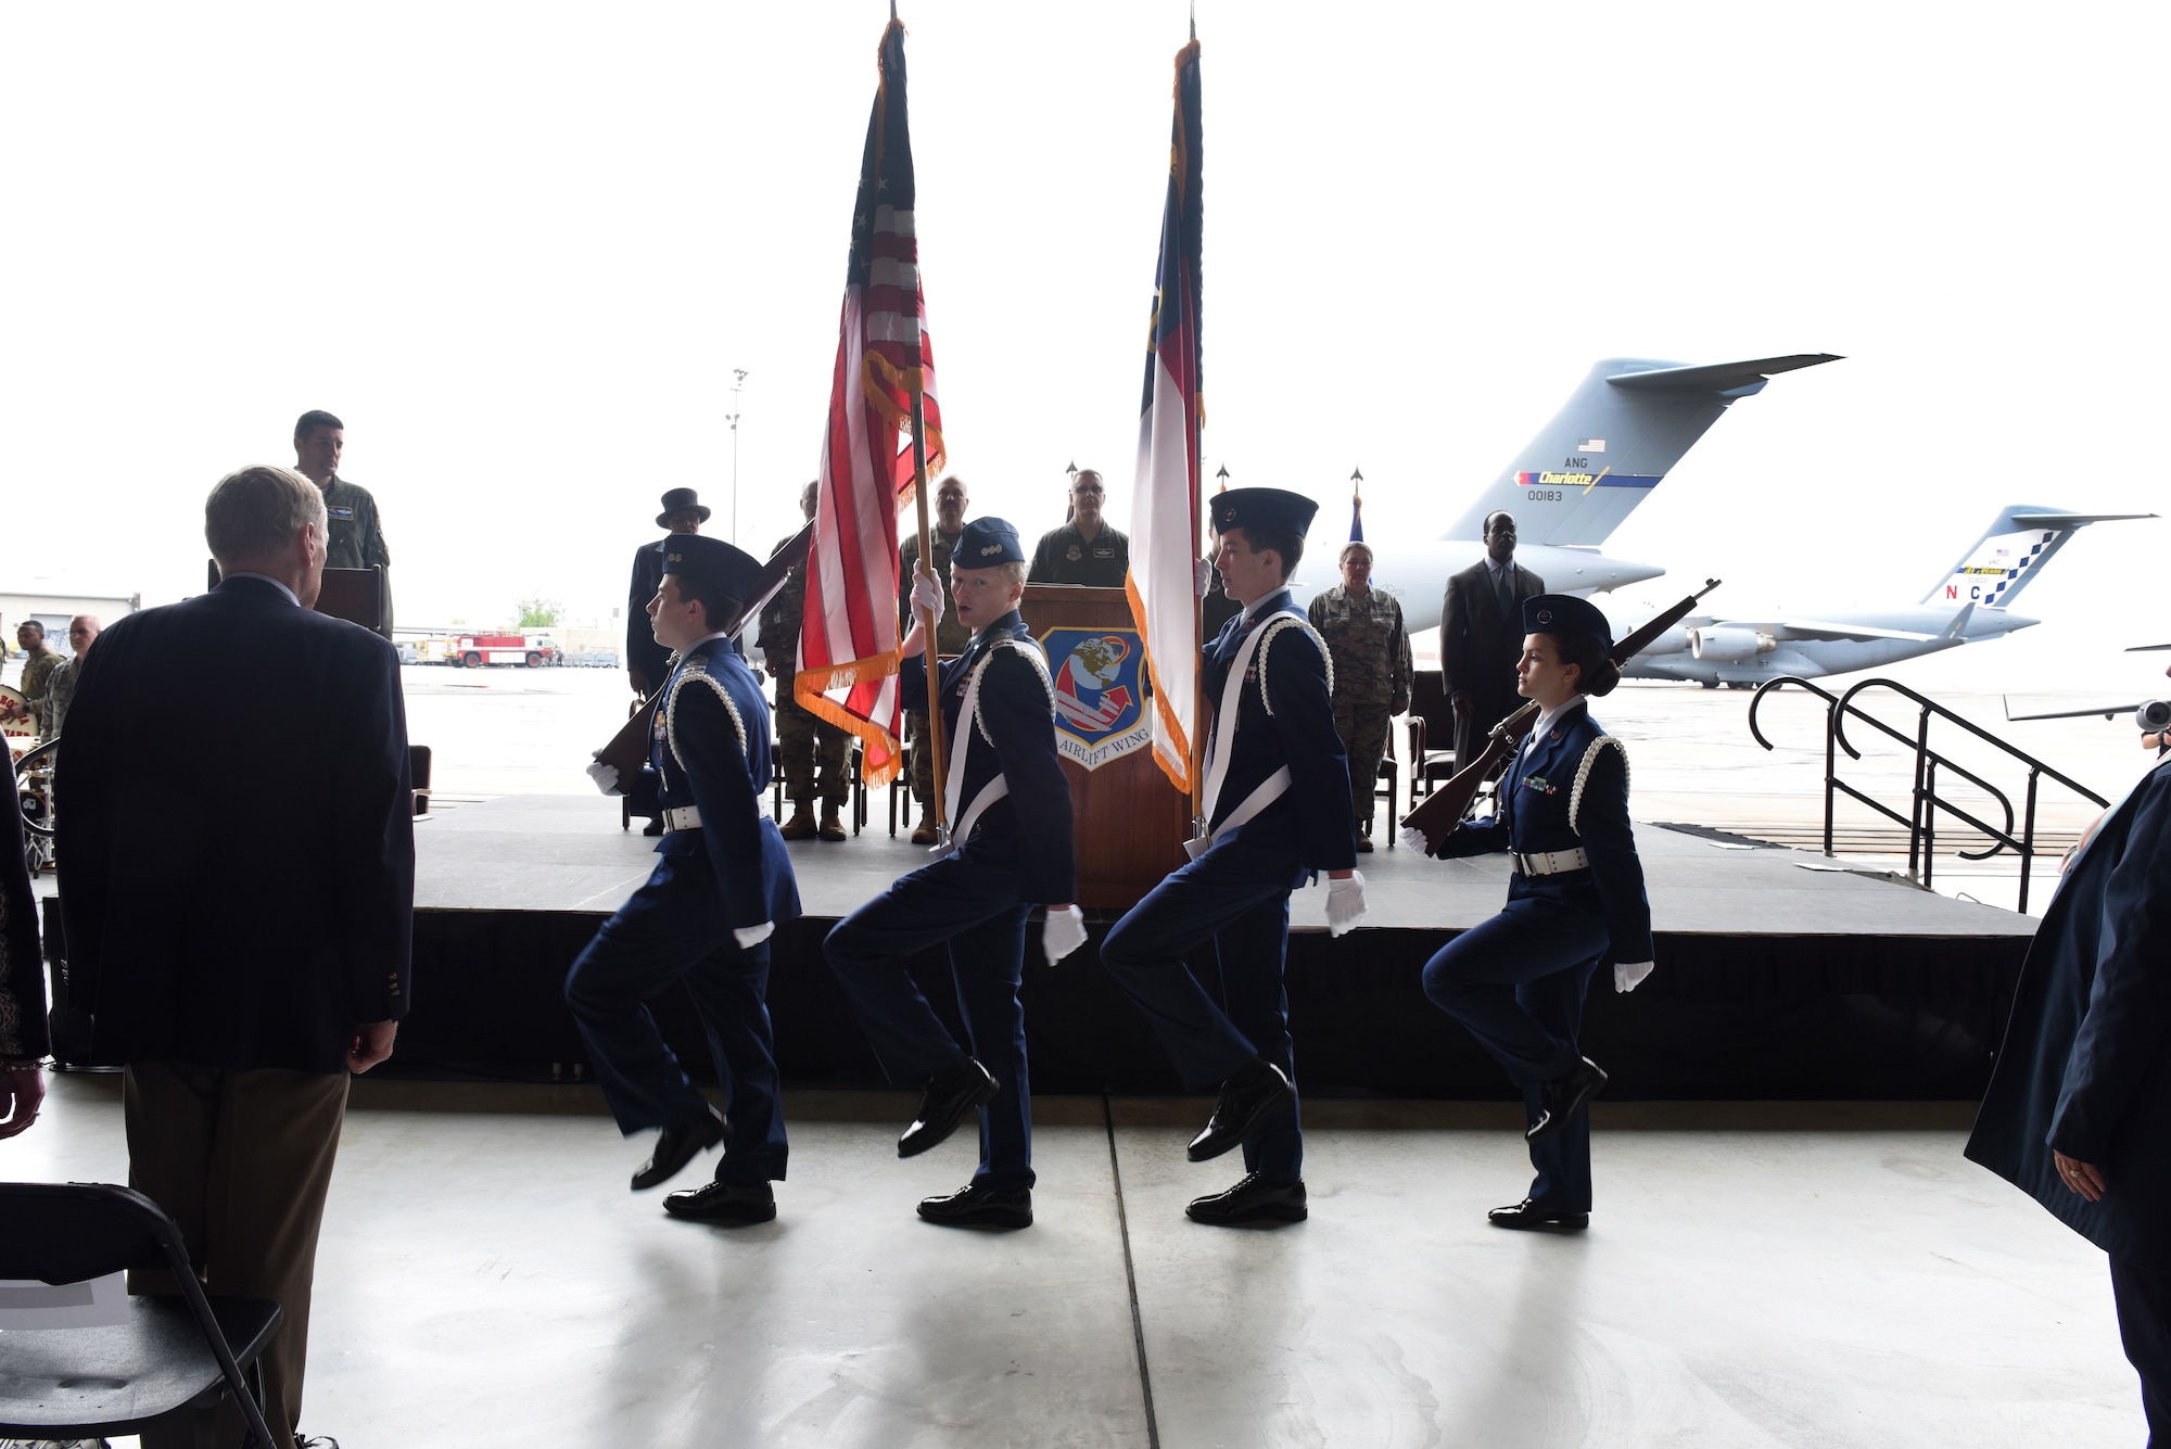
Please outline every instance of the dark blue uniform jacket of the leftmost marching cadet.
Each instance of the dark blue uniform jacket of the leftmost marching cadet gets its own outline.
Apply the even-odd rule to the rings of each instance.
[[[762,813],[769,787],[769,701],[729,640],[703,640],[664,685],[649,738],[649,768],[630,781],[634,813],[701,809],[699,831],[666,831],[658,855],[708,850],[734,931],[799,915],[799,885],[775,820]]]

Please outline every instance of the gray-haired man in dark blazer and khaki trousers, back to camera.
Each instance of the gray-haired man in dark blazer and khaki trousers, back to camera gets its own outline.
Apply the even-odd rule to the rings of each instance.
[[[415,905],[399,657],[310,612],[323,510],[287,469],[213,488],[224,581],[100,636],[56,781],[69,970],[96,1059],[128,1063],[128,1182],[180,1223],[206,1291],[284,1310],[263,1358],[280,1445],[302,1412],[347,1074],[391,1056]],[[221,683],[219,748],[267,798],[239,813],[230,774],[169,727],[211,657],[250,662]],[[148,1273],[135,1286],[158,1291]],[[241,1419],[226,1403],[143,1442],[234,1445]]]

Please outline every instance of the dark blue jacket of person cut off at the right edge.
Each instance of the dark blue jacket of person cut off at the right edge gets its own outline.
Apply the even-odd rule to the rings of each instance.
[[[2171,764],[2160,764],[2104,820],[2043,911],[1967,1139],[1969,1158],[2067,1228],[2158,1273],[2171,1269],[2167,879]],[[2104,1200],[2067,1189],[2052,1150],[2102,1167]]]

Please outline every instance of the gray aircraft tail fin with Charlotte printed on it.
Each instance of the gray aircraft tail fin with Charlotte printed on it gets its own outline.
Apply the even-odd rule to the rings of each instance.
[[[1474,540],[1507,510],[1522,544],[1596,549],[1737,397],[1828,351],[1685,367],[1607,358],[1442,538]]]

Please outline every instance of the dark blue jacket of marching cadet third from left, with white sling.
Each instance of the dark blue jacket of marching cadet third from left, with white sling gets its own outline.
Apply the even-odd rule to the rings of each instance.
[[[1229,668],[1244,640],[1272,623],[1274,614],[1294,610],[1290,590],[1264,599],[1246,625],[1237,614],[1207,644],[1205,690],[1220,709]],[[1318,870],[1350,870],[1357,863],[1357,822],[1350,813],[1350,768],[1335,733],[1335,705],[1326,690],[1326,653],[1309,627],[1277,629],[1259,646],[1244,670],[1244,692],[1237,696],[1235,742],[1229,748],[1229,772],[1214,800],[1209,829],[1220,826],[1237,805],[1266,779],[1290,766],[1290,787],[1264,811],[1216,842],[1227,848],[1237,839],[1253,846],[1283,844],[1303,861],[1303,876]]]

